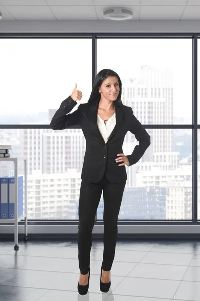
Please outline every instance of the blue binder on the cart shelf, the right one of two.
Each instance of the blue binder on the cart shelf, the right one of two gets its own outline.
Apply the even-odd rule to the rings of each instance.
[[[8,187],[8,203],[9,218],[15,218],[15,177],[9,178]],[[18,217],[23,215],[23,176],[18,177]]]

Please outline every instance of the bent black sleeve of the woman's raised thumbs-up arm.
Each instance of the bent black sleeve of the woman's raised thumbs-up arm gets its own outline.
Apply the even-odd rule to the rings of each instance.
[[[61,102],[60,108],[54,114],[50,127],[52,129],[65,129],[71,125],[79,125],[81,118],[81,111],[78,107],[76,111],[69,113],[77,105],[77,102],[71,96]]]

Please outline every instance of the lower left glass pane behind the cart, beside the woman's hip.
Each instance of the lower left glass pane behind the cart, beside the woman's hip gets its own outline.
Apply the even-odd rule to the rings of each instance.
[[[28,163],[28,219],[78,220],[85,137],[81,129],[0,129],[0,145]],[[79,145],[79,146],[77,146]],[[24,162],[19,161],[19,175]],[[14,163],[0,160],[0,177],[14,176]]]

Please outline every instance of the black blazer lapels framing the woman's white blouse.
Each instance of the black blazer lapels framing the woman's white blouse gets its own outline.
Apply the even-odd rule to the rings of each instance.
[[[108,141],[106,144],[110,142],[111,139],[116,137],[116,133],[119,131],[119,129],[122,126],[122,117],[123,117],[123,107],[116,106],[115,105],[115,116],[116,116],[116,124],[115,127],[113,128]],[[98,124],[97,124],[97,110],[98,110],[98,102],[94,102],[89,106],[88,110],[88,121],[90,122],[91,125],[91,133],[93,134],[94,137],[96,137],[98,140],[100,140],[104,145],[105,141],[99,131]]]

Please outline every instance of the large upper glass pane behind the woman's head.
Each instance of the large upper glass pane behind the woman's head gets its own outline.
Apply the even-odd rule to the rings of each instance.
[[[104,68],[118,73],[122,102],[143,124],[191,124],[191,39],[98,39]]]

